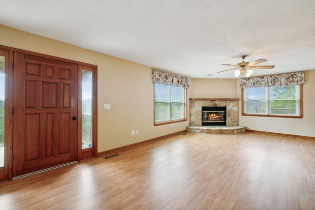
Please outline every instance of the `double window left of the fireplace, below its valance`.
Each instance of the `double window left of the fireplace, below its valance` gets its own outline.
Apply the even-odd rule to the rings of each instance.
[[[155,125],[187,120],[187,90],[155,83]]]

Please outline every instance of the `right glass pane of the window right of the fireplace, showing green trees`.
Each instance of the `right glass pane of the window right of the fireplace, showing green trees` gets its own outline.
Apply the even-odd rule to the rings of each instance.
[[[271,114],[296,115],[299,86],[271,87]]]

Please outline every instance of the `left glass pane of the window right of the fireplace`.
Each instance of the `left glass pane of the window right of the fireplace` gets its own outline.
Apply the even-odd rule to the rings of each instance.
[[[267,114],[267,89],[245,89],[245,113]]]

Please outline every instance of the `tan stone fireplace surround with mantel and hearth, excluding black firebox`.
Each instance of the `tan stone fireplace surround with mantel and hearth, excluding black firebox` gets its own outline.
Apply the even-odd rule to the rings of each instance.
[[[239,126],[238,98],[189,98],[189,127],[187,132],[212,134],[240,134],[245,132],[245,126]],[[203,106],[225,106],[226,126],[202,126]]]

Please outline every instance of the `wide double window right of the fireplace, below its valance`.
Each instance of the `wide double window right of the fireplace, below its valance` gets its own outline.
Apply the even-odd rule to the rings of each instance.
[[[302,118],[302,85],[243,89],[242,115]]]

